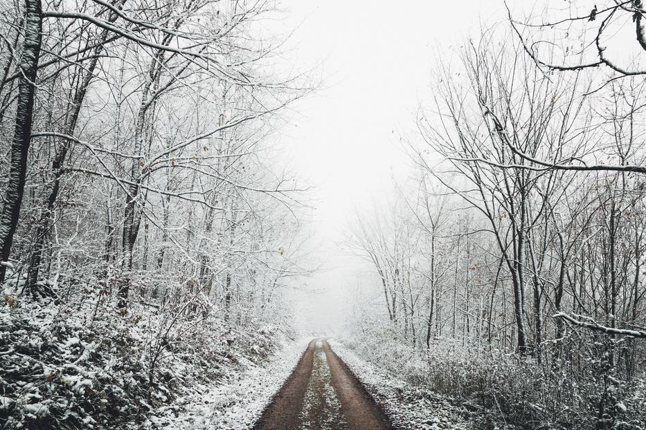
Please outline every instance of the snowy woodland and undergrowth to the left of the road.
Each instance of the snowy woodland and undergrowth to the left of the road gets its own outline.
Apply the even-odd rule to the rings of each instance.
[[[0,427],[141,424],[291,331],[307,82],[271,1],[0,8]]]

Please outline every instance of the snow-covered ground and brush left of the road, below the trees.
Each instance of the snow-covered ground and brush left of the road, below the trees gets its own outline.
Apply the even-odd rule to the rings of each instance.
[[[251,321],[15,300],[0,303],[2,429],[246,429],[305,350]],[[242,421],[215,416],[227,408]]]

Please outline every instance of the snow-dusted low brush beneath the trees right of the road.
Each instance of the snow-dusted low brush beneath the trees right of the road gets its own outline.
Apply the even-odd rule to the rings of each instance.
[[[548,350],[539,362],[452,339],[412,348],[387,328],[374,330],[347,343],[402,380],[481,411],[484,428],[494,422],[523,429],[646,428],[643,377],[625,382],[604,353],[573,360],[567,351],[556,358]]]

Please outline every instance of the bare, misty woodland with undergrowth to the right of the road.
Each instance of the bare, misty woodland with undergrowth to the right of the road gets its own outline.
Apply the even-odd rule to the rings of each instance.
[[[440,56],[411,178],[349,229],[382,308],[352,345],[483,428],[645,425],[644,9],[588,6]]]

